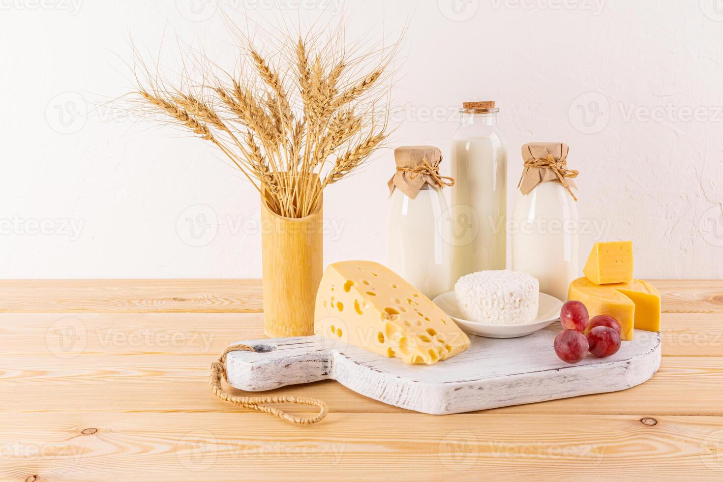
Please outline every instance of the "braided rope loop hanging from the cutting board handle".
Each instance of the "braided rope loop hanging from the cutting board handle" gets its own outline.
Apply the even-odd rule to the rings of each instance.
[[[298,425],[311,425],[312,423],[317,423],[329,413],[326,403],[315,398],[295,397],[294,395],[287,395],[283,397],[238,397],[226,392],[223,390],[223,387],[221,387],[221,380],[224,379],[228,382],[228,378],[226,378],[226,355],[228,355],[231,351],[254,351],[254,349],[249,345],[231,345],[226,348],[226,350],[223,350],[223,353],[221,353],[218,361],[211,363],[211,391],[214,395],[221,398],[221,400],[226,400],[226,402],[239,405],[243,408],[248,408],[249,410],[258,410],[260,412],[270,413],[282,420],[289,423],[296,423]],[[295,417],[291,415],[291,413],[286,413],[278,408],[265,405],[267,403],[295,403],[296,405],[310,405],[312,407],[318,407],[319,413],[312,417]]]

